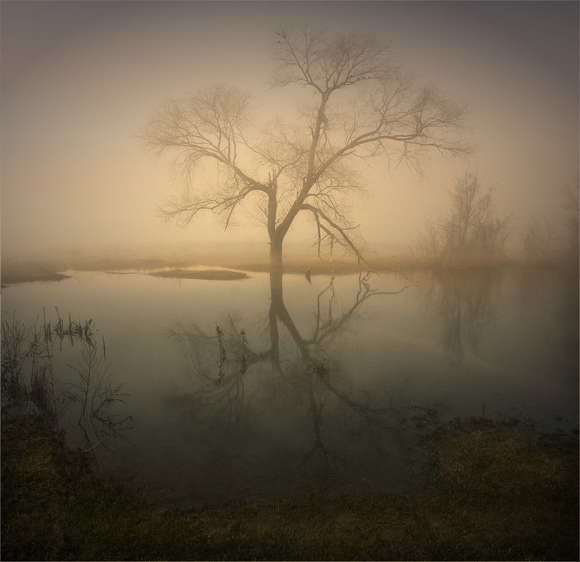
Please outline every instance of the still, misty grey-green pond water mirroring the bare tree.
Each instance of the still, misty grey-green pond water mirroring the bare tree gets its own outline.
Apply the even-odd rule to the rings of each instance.
[[[103,471],[167,502],[399,486],[418,407],[578,425],[577,278],[422,273],[404,288],[395,273],[312,285],[285,275],[273,299],[265,273],[69,273],[3,289],[3,319],[42,323],[45,307],[56,320],[55,306],[93,319],[115,379],[130,382],[135,426],[131,443],[100,457]],[[55,357],[65,380],[67,347]]]

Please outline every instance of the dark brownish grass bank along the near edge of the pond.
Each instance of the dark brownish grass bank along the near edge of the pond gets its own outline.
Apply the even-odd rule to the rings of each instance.
[[[2,434],[3,560],[578,560],[578,441],[437,425],[407,495],[160,511],[31,418]]]

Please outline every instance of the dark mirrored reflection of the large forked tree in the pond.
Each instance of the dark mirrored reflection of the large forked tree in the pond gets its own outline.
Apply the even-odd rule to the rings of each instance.
[[[386,407],[372,390],[357,387],[323,354],[371,299],[401,293],[408,286],[379,291],[371,287],[370,273],[360,273],[352,304],[345,308],[330,278],[318,293],[305,335],[284,304],[282,273],[273,272],[270,278],[271,303],[261,342],[248,341],[231,316],[213,333],[195,322],[178,323],[171,330],[171,339],[185,355],[191,383],[191,391],[178,397],[187,418],[184,425],[200,447],[216,443],[219,435],[221,462],[216,470],[223,471],[223,478],[254,471],[264,479],[284,481],[287,489],[360,486],[366,472],[384,472],[394,457],[400,463],[403,453],[394,448],[396,443],[402,448],[402,413]],[[271,468],[265,468],[266,458]],[[384,473],[381,478],[389,479]]]

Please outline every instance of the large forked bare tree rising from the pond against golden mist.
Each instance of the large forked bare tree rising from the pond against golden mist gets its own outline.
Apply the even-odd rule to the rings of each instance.
[[[250,97],[216,85],[170,99],[148,122],[146,146],[171,153],[187,180],[160,214],[187,225],[209,210],[228,228],[234,211],[249,203],[268,230],[271,269],[281,273],[284,237],[306,212],[319,254],[332,241],[364,261],[346,215],[360,189],[357,162],[383,156],[420,169],[429,150],[465,155],[468,107],[417,85],[373,35],[282,28],[272,52],[272,85],[294,88],[301,98],[292,121],[257,128]],[[214,164],[214,185],[192,181],[202,162]]]

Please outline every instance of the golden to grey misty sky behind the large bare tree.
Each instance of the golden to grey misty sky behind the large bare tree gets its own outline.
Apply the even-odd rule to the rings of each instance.
[[[373,31],[420,80],[472,105],[469,164],[434,154],[420,178],[373,162],[354,210],[371,243],[407,242],[468,167],[496,186],[499,214],[556,223],[579,171],[577,1],[2,0],[0,18],[3,252],[266,246],[258,227],[158,219],[174,184],[137,135],[166,96],[216,82],[252,92],[264,114],[291,110],[266,86],[280,24]]]

